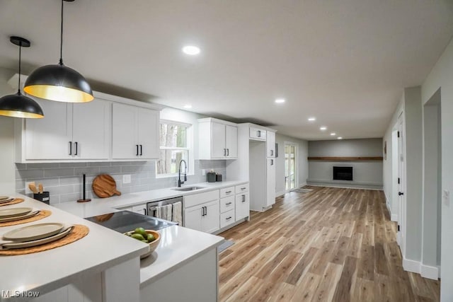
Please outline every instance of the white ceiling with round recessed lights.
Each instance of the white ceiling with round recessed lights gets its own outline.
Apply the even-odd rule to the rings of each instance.
[[[16,68],[10,35],[33,43],[25,71],[57,63],[59,5],[0,1],[0,66]],[[452,33],[450,0],[76,0],[65,3],[64,62],[108,93],[303,139],[371,138]],[[180,52],[188,44],[202,53]]]

